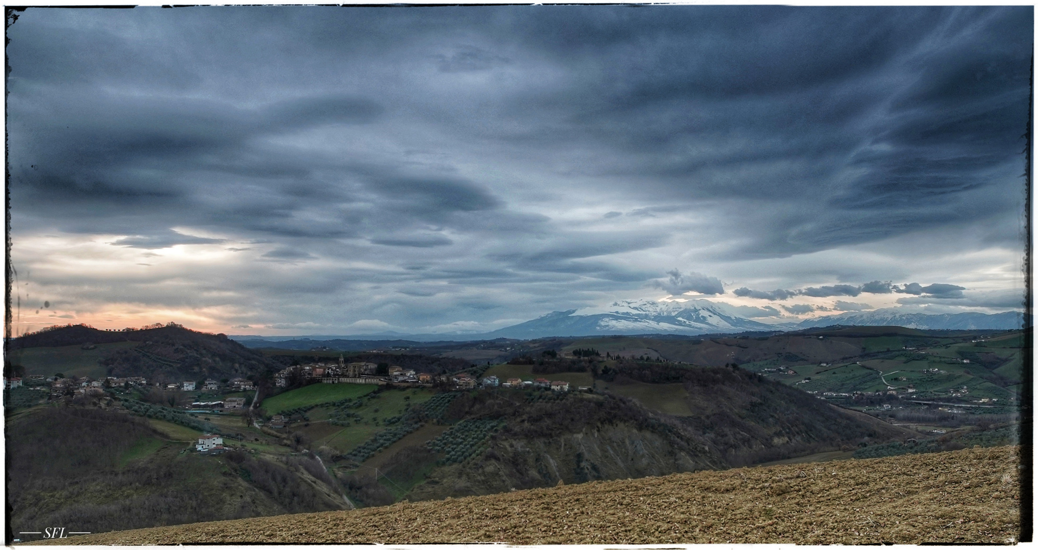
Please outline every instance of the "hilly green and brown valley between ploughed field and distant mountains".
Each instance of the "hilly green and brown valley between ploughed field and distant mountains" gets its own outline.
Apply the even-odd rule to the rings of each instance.
[[[9,491],[18,525],[83,516],[101,532],[987,447],[1019,437],[1019,331],[844,327],[463,342],[461,350],[506,354],[477,364],[442,348],[436,355],[379,342],[354,352],[320,345],[253,351],[218,335],[162,330],[163,340],[131,334],[93,343],[97,334],[76,329],[50,335],[58,346],[18,349],[26,384],[5,391],[15,434],[8,456],[28,472]],[[154,378],[115,370],[136,363],[111,358],[139,346],[151,346],[149,355],[139,354],[139,373]],[[236,367],[233,357],[251,362]],[[351,364],[373,374],[356,379],[362,383],[325,379]],[[47,381],[50,370],[63,378]],[[103,370],[126,378],[102,378]],[[203,380],[208,374],[239,377]],[[167,384],[172,377],[181,381]],[[241,408],[228,409],[236,398]],[[52,424],[107,445],[44,446]],[[221,452],[194,449],[206,434],[222,437]],[[85,477],[37,466],[81,453]],[[168,483],[102,489],[137,477]],[[54,493],[72,482],[74,489]],[[128,502],[149,512],[106,523]]]

